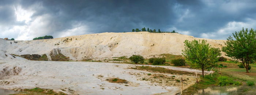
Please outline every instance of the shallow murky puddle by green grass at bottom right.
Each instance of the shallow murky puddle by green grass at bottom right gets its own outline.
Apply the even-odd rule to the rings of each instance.
[[[245,86],[208,87],[194,95],[242,95],[245,88]]]

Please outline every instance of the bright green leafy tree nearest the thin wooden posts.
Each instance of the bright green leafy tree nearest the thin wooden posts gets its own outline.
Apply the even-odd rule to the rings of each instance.
[[[185,40],[184,43],[185,49],[182,50],[182,55],[192,62],[191,65],[200,68],[204,77],[204,70],[214,67],[218,62],[221,50],[211,47],[206,40]]]

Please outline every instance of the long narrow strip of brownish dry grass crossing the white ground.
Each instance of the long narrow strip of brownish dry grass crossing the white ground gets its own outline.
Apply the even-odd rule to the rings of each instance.
[[[151,71],[151,72],[159,72],[159,73],[171,73],[171,74],[194,74],[191,72],[185,72],[185,71],[176,71],[171,69],[166,69],[162,67],[152,67],[152,66],[136,66],[135,68],[129,68],[129,69],[139,69],[139,70],[145,70],[145,71]]]

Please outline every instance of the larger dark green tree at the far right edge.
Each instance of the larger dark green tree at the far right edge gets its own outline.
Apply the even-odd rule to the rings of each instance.
[[[256,60],[256,30],[242,28],[241,31],[233,33],[233,37],[227,38],[222,51],[226,56],[239,60],[246,68],[246,73],[249,73],[249,64]]]

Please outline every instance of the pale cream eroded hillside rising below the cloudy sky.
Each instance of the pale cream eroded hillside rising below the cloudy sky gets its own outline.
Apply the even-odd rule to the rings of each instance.
[[[7,41],[0,39],[0,50],[7,54],[38,54],[47,60],[87,60],[111,58],[140,54],[148,57],[155,54],[170,53],[181,55],[184,41],[194,38],[178,33],[99,33],[33,41]],[[221,48],[224,40],[206,39],[213,47]],[[224,55],[224,53],[223,53]]]

